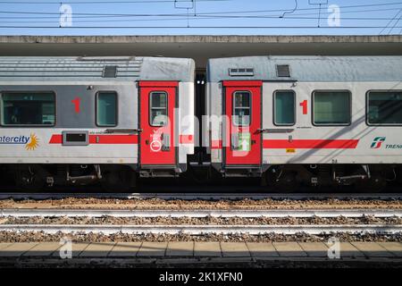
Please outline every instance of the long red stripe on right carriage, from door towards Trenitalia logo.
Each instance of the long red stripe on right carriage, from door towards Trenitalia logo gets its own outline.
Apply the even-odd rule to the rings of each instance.
[[[298,149],[355,149],[358,139],[265,139],[266,149],[298,148]]]

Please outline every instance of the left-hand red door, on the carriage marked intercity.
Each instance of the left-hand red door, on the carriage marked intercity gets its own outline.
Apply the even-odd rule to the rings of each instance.
[[[139,164],[175,166],[177,81],[139,82]]]

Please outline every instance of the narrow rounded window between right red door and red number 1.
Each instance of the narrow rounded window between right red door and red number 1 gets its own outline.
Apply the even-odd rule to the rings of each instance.
[[[295,92],[277,90],[273,95],[273,123],[275,125],[294,125],[296,122]]]

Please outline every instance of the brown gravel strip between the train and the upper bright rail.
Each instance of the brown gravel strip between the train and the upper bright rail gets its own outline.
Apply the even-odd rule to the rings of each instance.
[[[314,209],[314,208],[402,208],[402,200],[380,199],[240,199],[240,200],[165,200],[161,198],[63,198],[45,200],[0,200],[0,208],[110,208],[110,209]]]

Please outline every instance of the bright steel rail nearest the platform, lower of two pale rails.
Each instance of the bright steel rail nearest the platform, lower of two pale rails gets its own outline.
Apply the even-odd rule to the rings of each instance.
[[[310,235],[374,233],[393,234],[402,232],[402,225],[344,224],[344,225],[113,225],[113,224],[8,224],[0,225],[0,231],[42,231],[47,234],[62,233],[113,233],[127,234],[181,234],[203,235],[211,233],[258,235],[264,233]]]

